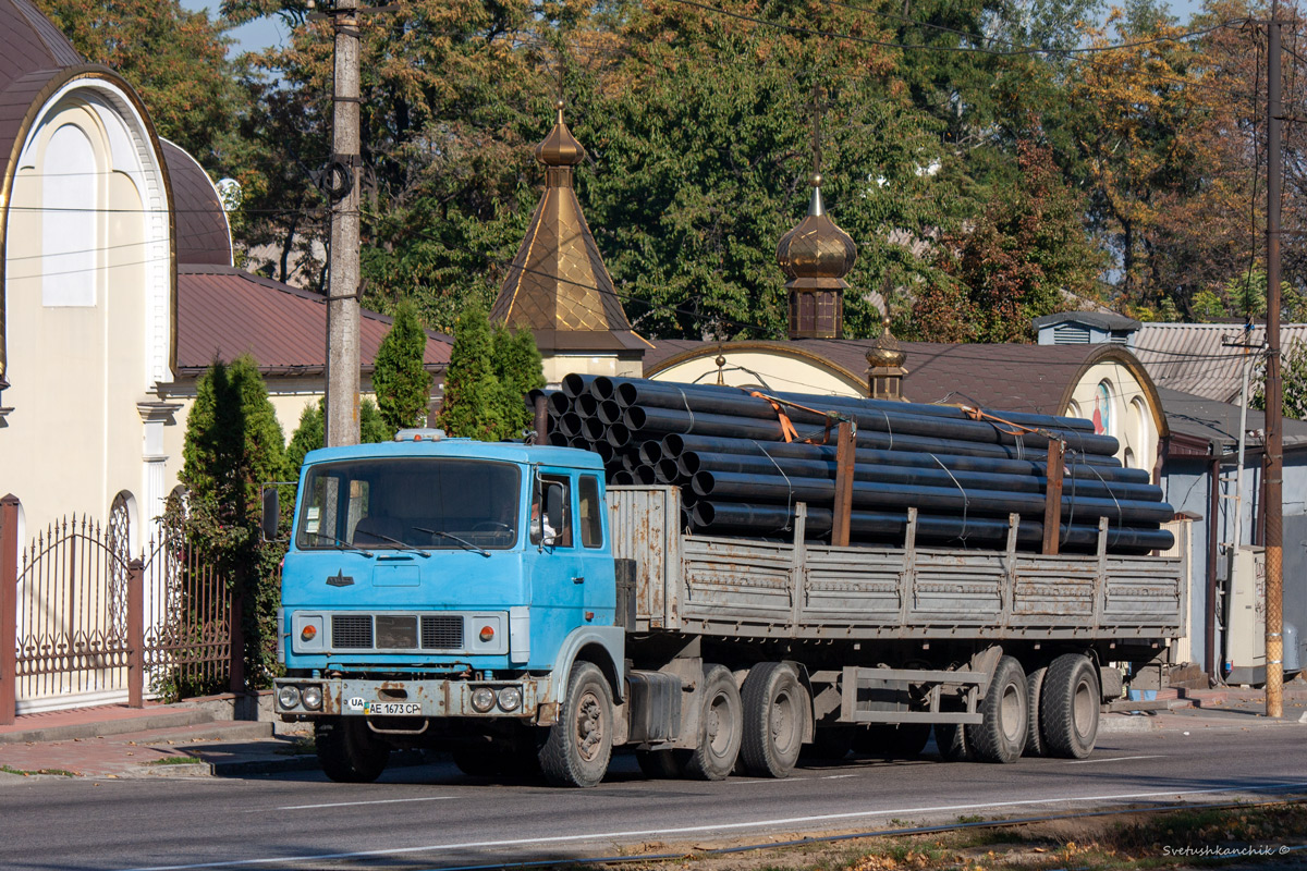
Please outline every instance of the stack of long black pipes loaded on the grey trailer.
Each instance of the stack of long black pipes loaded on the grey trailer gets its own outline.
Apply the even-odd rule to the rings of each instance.
[[[918,509],[918,541],[948,547],[1001,548],[1009,515],[1017,539],[1038,550],[1044,538],[1050,439],[1067,445],[1060,550],[1091,552],[1100,517],[1107,550],[1167,548],[1159,524],[1172,509],[1141,469],[1112,456],[1116,439],[1089,420],[993,411],[972,419],[945,405],[799,393],[776,406],[732,387],[569,375],[542,393],[549,441],[604,458],[609,484],[681,488],[682,522],[714,535],[792,534],[795,503],[808,503],[806,535],[830,537],[835,496],[835,427],[856,424],[855,542],[902,545],[907,509]]]

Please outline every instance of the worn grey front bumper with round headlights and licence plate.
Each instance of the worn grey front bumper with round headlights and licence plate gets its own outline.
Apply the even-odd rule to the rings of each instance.
[[[282,688],[294,687],[299,701],[284,704]],[[308,709],[305,689],[322,691],[322,705]],[[501,691],[516,688],[520,701],[511,710],[501,706]],[[489,710],[478,710],[472,695],[480,688],[495,693]],[[540,700],[549,699],[549,678],[525,675],[512,680],[359,680],[352,678],[277,678],[274,710],[286,718],[302,717],[512,717],[536,720]],[[508,693],[511,696],[511,693]]]

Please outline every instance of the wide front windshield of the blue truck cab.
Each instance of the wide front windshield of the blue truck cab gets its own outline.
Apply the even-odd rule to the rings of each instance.
[[[484,460],[357,460],[314,466],[295,545],[308,550],[507,550],[521,470]]]

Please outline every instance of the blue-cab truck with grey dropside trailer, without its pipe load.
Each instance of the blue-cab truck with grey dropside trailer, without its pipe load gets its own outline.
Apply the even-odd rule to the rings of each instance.
[[[274,526],[276,504],[265,504]],[[473,774],[593,786],[784,777],[808,746],[1084,757],[1114,663],[1183,631],[1180,562],[686,534],[674,487],[589,452],[400,432],[311,452],[278,614],[276,710],[371,781],[429,747]],[[267,531],[267,526],[265,526]]]

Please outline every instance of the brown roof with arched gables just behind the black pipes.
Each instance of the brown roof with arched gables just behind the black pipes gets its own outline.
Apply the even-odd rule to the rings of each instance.
[[[761,349],[799,349],[825,358],[857,383],[865,380],[867,351],[874,340],[797,340],[752,342]],[[652,372],[673,356],[697,350],[729,358],[731,342],[659,340],[644,356]],[[902,342],[907,354],[903,396],[912,402],[959,402],[1006,411],[1057,414],[1080,375],[1102,359],[1131,363],[1119,345],[945,345]],[[1146,377],[1144,372],[1138,372]]]

